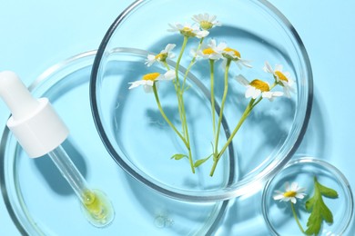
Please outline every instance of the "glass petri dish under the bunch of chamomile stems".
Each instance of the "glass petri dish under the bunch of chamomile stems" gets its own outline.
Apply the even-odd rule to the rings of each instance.
[[[209,15],[204,16],[205,13]],[[183,46],[184,35],[180,34],[183,27],[177,32],[167,31],[180,27],[175,25],[177,22],[195,27],[184,25],[185,22],[194,23],[193,15],[222,24],[214,22],[216,26],[209,30],[200,48],[206,49],[210,39],[214,39],[216,44],[238,47],[238,63],[248,65],[249,62],[242,59],[252,60],[253,68],[240,70],[236,64],[230,65],[225,100],[226,67],[221,61],[228,61],[227,57],[215,62],[215,94],[212,96],[208,60],[193,61],[196,53],[189,56],[191,50],[197,52],[200,39],[190,36]],[[176,45],[172,50],[176,57],[167,58],[167,64],[157,62],[147,66],[148,54],[158,59],[167,44]],[[179,60],[182,50],[185,53]],[[150,60],[153,57],[150,55]],[[245,87],[234,78],[242,74],[252,81],[269,76],[272,83],[273,75],[263,71],[266,61],[272,67],[283,65],[295,82],[294,93],[290,98],[278,97],[272,103],[265,101],[267,99],[260,101],[228,144],[249,102],[245,98]],[[167,67],[175,71],[175,77],[180,77],[181,84],[186,74],[188,90],[183,95],[186,119],[179,116],[180,104],[174,83],[160,82],[157,96],[177,132],[188,133],[192,161],[186,158],[189,155],[183,139],[179,139],[161,114],[154,93],[144,93],[140,88],[129,89],[129,83],[139,81],[145,74],[165,74]],[[267,1],[222,0],[216,3],[208,0],[202,5],[198,1],[147,0],[130,5],[107,30],[92,69],[90,102],[97,131],[107,152],[126,172],[171,198],[213,202],[259,190],[289,161],[307,128],[312,89],[309,57],[299,35]],[[212,101],[215,106],[211,105]],[[224,109],[222,117],[220,109]],[[213,112],[216,127],[221,119],[219,136],[213,134],[216,132],[212,127],[212,111],[216,111]],[[186,126],[188,131],[182,131]],[[218,145],[216,136],[220,140]],[[222,149],[225,152],[218,159],[213,177],[209,176],[213,157],[192,173],[191,162],[197,163],[210,156],[216,146],[218,152]]]

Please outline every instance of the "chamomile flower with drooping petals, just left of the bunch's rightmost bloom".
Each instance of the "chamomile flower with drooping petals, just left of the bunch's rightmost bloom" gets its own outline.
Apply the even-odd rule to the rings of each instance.
[[[236,79],[237,79],[238,83],[244,85],[247,88],[247,90],[245,92],[246,98],[251,97],[253,99],[256,99],[261,95],[263,98],[268,98],[270,101],[273,101],[273,99],[275,97],[279,97],[279,96],[283,95],[282,92],[271,92],[269,84],[264,81],[255,79],[255,80],[249,82],[241,74],[239,74],[236,77]]]

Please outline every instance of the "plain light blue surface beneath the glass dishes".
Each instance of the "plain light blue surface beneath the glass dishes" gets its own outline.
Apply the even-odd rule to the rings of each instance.
[[[67,57],[96,49],[108,26],[132,1],[5,1],[0,0],[0,71],[13,70],[31,84],[35,76]],[[299,154],[332,163],[355,188],[354,55],[355,1],[270,0],[289,18],[309,53],[314,75],[314,107]],[[203,3],[203,1],[201,1]],[[152,17],[154,17],[152,13]],[[1,130],[8,110],[0,103]],[[259,200],[259,194],[254,196]],[[250,207],[253,197],[240,199],[236,207]],[[254,206],[259,203],[254,204]],[[228,212],[218,231],[265,234],[243,215]],[[251,217],[252,218],[252,217]],[[234,219],[234,220],[233,220]],[[262,221],[262,219],[259,219]],[[227,226],[227,227],[226,227]],[[352,228],[350,235],[355,233]],[[0,198],[0,234],[19,235]]]

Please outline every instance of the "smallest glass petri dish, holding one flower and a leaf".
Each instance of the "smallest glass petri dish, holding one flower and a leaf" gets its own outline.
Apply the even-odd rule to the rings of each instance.
[[[285,183],[297,182],[299,187],[306,188],[306,196],[295,205],[300,225],[307,229],[309,211],[303,203],[313,195],[313,180],[317,177],[320,184],[338,192],[338,198],[323,197],[323,201],[333,214],[333,223],[322,223],[320,235],[343,235],[353,215],[353,196],[350,184],[345,176],[333,165],[310,157],[299,157],[289,162],[284,169],[269,180],[262,195],[262,213],[273,235],[300,235],[301,231],[293,218],[289,202],[273,199],[275,191],[285,192]],[[300,203],[299,203],[300,202]],[[302,204],[299,207],[299,204]]]

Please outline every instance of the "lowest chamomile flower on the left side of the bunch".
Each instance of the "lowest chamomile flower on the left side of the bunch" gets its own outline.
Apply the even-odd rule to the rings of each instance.
[[[155,83],[158,83],[159,81],[173,80],[174,78],[175,78],[175,71],[174,70],[169,70],[165,74],[160,74],[157,72],[145,74],[145,75],[143,75],[141,80],[128,83],[128,84],[131,84],[128,89],[137,88],[138,86],[142,85],[144,88],[144,91],[146,93],[151,93],[153,91],[153,85]]]

